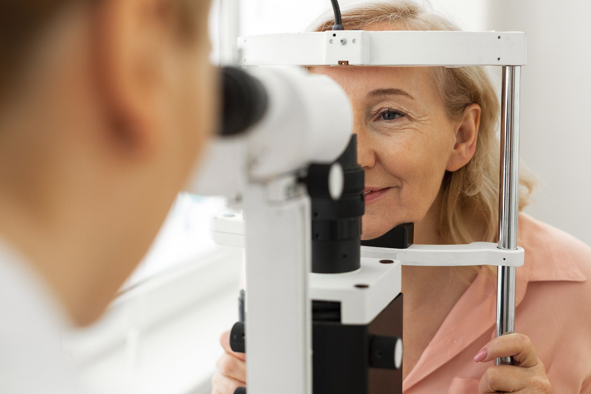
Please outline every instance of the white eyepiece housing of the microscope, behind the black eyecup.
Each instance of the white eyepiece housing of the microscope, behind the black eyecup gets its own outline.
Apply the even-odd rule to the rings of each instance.
[[[240,135],[216,138],[189,191],[235,197],[312,163],[335,161],[349,142],[352,111],[343,89],[326,76],[288,67],[249,70],[265,87],[268,109]]]

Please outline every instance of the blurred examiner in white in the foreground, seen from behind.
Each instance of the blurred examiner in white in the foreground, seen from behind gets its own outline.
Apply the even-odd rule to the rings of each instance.
[[[213,129],[209,3],[0,3],[0,392],[80,393],[60,334],[105,310]]]

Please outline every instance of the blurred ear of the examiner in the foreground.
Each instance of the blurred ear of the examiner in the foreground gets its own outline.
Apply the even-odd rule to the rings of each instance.
[[[157,149],[170,91],[174,0],[105,0],[95,14],[96,83],[109,142],[129,154]]]

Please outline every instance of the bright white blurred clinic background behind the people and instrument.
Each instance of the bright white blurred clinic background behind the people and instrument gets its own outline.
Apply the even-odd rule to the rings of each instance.
[[[212,59],[224,35],[220,2],[210,16]],[[329,0],[235,0],[241,35],[304,31]],[[521,161],[535,174],[525,210],[591,245],[591,2],[584,0],[417,0],[465,30],[525,31],[521,74]],[[355,1],[359,2],[359,1]],[[362,2],[362,1],[361,1]],[[340,0],[342,6],[350,3]],[[395,50],[395,48],[393,48]],[[497,74],[500,90],[500,68]],[[236,321],[242,251],[215,245],[209,218],[220,198],[181,194],[152,249],[96,327],[64,349],[91,390],[209,394],[219,334]]]

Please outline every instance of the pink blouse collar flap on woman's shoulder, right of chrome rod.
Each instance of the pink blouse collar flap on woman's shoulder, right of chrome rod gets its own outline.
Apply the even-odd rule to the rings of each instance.
[[[519,214],[518,233],[518,245],[525,249],[524,266],[528,266],[530,280],[585,282],[591,279],[591,247],[586,243],[525,213]]]

